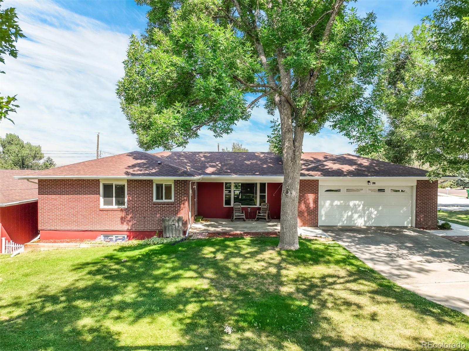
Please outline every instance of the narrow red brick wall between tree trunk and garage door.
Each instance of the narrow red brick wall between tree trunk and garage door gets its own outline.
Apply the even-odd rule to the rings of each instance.
[[[298,225],[317,227],[319,210],[319,180],[300,180],[298,195]]]

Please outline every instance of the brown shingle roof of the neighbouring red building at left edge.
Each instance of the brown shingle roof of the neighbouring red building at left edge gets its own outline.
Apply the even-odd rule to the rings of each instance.
[[[0,170],[0,205],[38,198],[38,185],[14,176],[30,174],[32,170]]]

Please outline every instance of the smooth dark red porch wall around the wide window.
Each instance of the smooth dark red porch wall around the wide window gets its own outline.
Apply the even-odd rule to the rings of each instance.
[[[197,182],[197,215],[205,218],[230,218],[232,207],[223,206],[223,182]],[[273,219],[280,218],[282,183],[267,183],[267,202]],[[256,217],[259,207],[251,207],[251,217]],[[242,208],[248,218],[248,206]]]

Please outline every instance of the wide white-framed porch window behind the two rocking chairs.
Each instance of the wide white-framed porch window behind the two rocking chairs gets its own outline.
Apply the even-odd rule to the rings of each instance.
[[[267,202],[267,183],[225,182],[223,206],[233,206],[234,202],[259,207],[262,202]]]

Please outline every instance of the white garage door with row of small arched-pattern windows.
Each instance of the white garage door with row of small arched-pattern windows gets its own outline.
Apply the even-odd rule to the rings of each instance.
[[[412,225],[412,187],[320,186],[319,225]]]

